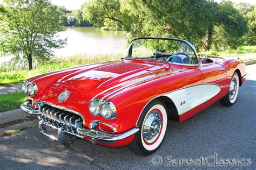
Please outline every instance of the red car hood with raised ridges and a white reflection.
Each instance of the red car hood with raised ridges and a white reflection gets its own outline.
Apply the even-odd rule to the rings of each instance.
[[[134,78],[141,79],[145,74],[151,74],[152,77],[156,74],[155,72],[163,68],[163,66],[145,63],[116,62],[91,69],[77,70],[59,79],[57,84],[99,93],[118,84],[134,80]]]

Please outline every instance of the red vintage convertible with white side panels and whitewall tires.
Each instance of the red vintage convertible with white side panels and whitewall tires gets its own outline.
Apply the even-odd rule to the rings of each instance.
[[[168,119],[184,122],[217,101],[230,107],[246,76],[239,59],[199,55],[178,38],[140,37],[120,61],[24,80],[21,108],[62,143],[79,138],[149,155],[163,142]]]

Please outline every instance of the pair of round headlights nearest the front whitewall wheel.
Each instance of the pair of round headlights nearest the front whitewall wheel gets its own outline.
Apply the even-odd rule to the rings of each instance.
[[[109,101],[99,101],[98,98],[93,98],[89,103],[89,111],[93,116],[102,115],[105,119],[111,120],[116,117],[116,107]]]

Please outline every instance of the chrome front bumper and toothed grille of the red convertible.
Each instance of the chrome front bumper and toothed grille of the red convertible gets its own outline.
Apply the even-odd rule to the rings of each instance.
[[[79,138],[84,138],[85,136],[91,137],[93,140],[96,139],[95,141],[98,141],[97,139],[103,140],[103,141],[122,140],[139,131],[139,128],[137,128],[137,126],[124,133],[109,133],[109,132],[102,131],[100,129],[96,130],[95,128],[91,128],[91,129],[84,128],[84,126],[82,125],[82,122],[77,123],[76,119],[72,121],[72,117],[69,118],[69,116],[65,114],[62,116],[62,113],[59,113],[58,115],[57,114],[58,111],[55,112],[54,110],[47,110],[48,108],[33,109],[32,104],[30,102],[23,103],[21,105],[21,109],[24,110],[25,112],[28,112],[28,114],[37,115],[40,121],[39,129],[41,129],[41,132],[46,136],[49,136],[55,140],[59,140],[59,139],[54,138],[50,134],[45,133],[42,130],[42,125],[47,125],[53,129],[57,129],[58,133],[62,135],[63,133],[60,133],[60,132],[66,132]],[[68,119],[66,119],[65,117],[68,117]],[[97,121],[93,121],[90,124],[90,127],[96,127],[97,126],[96,124],[97,124]]]

